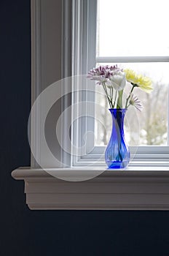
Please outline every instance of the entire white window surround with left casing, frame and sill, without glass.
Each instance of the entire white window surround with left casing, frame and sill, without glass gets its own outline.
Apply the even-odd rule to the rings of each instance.
[[[71,12],[71,4],[73,13]],[[97,146],[93,136],[93,132],[95,132],[95,108],[90,108],[93,116],[87,116],[89,111],[85,105],[86,99],[90,99],[89,102],[92,106],[95,105],[95,100],[97,100],[95,93],[93,93],[95,86],[93,86],[93,90],[85,91],[76,88],[79,83],[78,75],[87,74],[87,71],[96,64],[96,4],[97,1],[95,0],[31,1],[32,102],[34,103],[36,97],[51,83],[69,76],[71,69],[73,75],[77,76],[74,76],[74,83],[68,83],[70,88],[65,86],[64,81],[66,82],[66,80],[63,80],[63,83],[57,87],[55,94],[50,91],[51,99],[54,101],[61,90],[67,94],[52,105],[46,120],[43,119],[43,110],[48,102],[42,98],[39,105],[34,108],[30,127],[31,146],[34,156],[39,162],[37,163],[32,157],[31,167],[20,167],[12,172],[12,176],[15,179],[25,180],[26,203],[31,209],[168,210],[169,172],[168,167],[165,166],[168,159],[168,146],[165,146],[165,149],[164,146],[162,148],[161,146],[139,148],[138,162],[132,162],[132,165],[137,165],[137,167],[130,167],[127,172],[105,171],[101,176],[98,176],[100,170],[101,173],[105,170],[105,164],[101,157],[104,146]],[[72,34],[71,18],[74,20]],[[70,61],[71,48],[74,53],[72,63]],[[153,59],[152,56],[151,58]],[[162,56],[162,58],[163,60],[160,58],[160,61],[168,62],[168,56]],[[117,63],[119,60],[119,57],[118,59],[114,57],[113,62]],[[127,61],[129,60],[135,62],[133,57],[127,59]],[[146,62],[149,60],[146,59]],[[101,59],[97,59],[97,61],[100,63]],[[109,63],[112,60],[107,57],[102,61]],[[124,60],[121,62],[123,63]],[[64,69],[61,68],[62,66]],[[86,84],[86,75],[84,75],[83,81],[84,89],[90,88]],[[71,90],[72,84],[74,91]],[[88,134],[90,132],[90,136],[85,139],[87,141],[84,147],[85,154],[81,157],[71,158],[70,154],[61,150],[58,140],[55,139],[55,127],[60,114],[68,109],[72,102],[75,103],[78,100],[84,103],[84,116],[72,124],[71,135],[76,135],[74,145],[80,145],[80,140],[84,138],[87,132]],[[62,134],[60,135],[58,132],[60,140],[63,143],[68,143],[67,146],[70,146],[70,142],[65,127],[71,118],[76,119],[76,112],[67,113],[60,129]],[[66,125],[64,126],[64,124]],[[79,129],[76,129],[76,125],[79,126]],[[81,131],[81,136],[78,131]],[[52,154],[45,154],[44,149],[48,146],[53,156]],[[154,162],[156,158],[157,162]],[[60,159],[66,165],[90,164],[102,165],[103,167],[63,168],[60,166]],[[146,162],[146,159],[149,161]],[[43,165],[44,170],[39,168],[38,164]],[[141,164],[146,165],[146,167],[138,167]],[[95,176],[98,177],[93,178]],[[60,181],[55,177],[63,180]],[[87,181],[88,178],[90,181]],[[67,180],[82,181],[82,179],[85,182],[67,182]]]

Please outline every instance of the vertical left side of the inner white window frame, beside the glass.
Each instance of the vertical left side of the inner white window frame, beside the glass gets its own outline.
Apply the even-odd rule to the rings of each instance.
[[[73,0],[72,1],[72,75],[87,75],[87,72],[95,67],[95,44],[96,44],[96,14],[97,0]],[[94,85],[93,91],[89,91],[87,79],[74,83],[72,80],[72,104],[83,102],[83,108],[79,104],[79,108],[72,111],[72,120],[76,116],[82,116],[81,113],[86,110],[85,116],[79,118],[76,124],[72,124],[71,138],[76,148],[82,147],[83,138],[88,131],[94,131],[94,118],[88,117],[88,101],[95,102]],[[80,87],[82,86],[82,88]],[[91,86],[91,85],[90,85]],[[90,109],[91,115],[91,109]],[[95,108],[93,105],[92,116],[95,116]],[[92,150],[94,146],[94,137],[86,138],[86,154]],[[72,157],[72,165],[78,165],[80,157]]]

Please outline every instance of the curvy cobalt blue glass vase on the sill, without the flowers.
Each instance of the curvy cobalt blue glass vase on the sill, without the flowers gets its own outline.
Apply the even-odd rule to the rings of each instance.
[[[111,138],[105,151],[109,169],[124,169],[130,161],[130,150],[125,143],[124,118],[126,109],[109,109],[112,116]]]

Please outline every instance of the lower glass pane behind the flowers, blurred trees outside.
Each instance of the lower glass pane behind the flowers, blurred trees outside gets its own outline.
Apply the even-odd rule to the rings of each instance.
[[[108,64],[108,63],[106,63]],[[110,64],[110,63],[109,63]],[[98,64],[99,65],[99,64]],[[110,64],[111,65],[111,64]],[[168,137],[168,63],[118,64],[135,72],[149,76],[153,80],[150,94],[135,88],[133,93],[141,100],[144,109],[140,112],[133,106],[128,108],[125,123],[125,138],[130,146],[167,145]],[[111,132],[111,115],[102,86],[95,87],[95,146],[107,145]],[[131,86],[127,83],[125,94]],[[103,94],[100,94],[102,92]],[[102,108],[99,106],[101,105]],[[134,111],[134,112],[132,112]],[[139,139],[139,141],[138,141]]]

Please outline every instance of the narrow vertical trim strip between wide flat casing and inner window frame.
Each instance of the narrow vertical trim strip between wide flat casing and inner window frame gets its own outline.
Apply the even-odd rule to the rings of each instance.
[[[63,0],[63,15],[62,15],[62,78],[71,77],[71,31],[72,31],[72,13],[71,2]],[[71,79],[70,79],[71,80]],[[66,83],[66,80],[62,80],[62,94],[64,97],[61,99],[61,111],[67,110],[67,114],[63,115],[61,130],[61,163],[63,166],[71,166],[71,154],[68,154],[63,148],[71,148],[71,141],[68,140],[67,127],[71,124],[71,83]],[[71,129],[71,128],[70,128]]]

